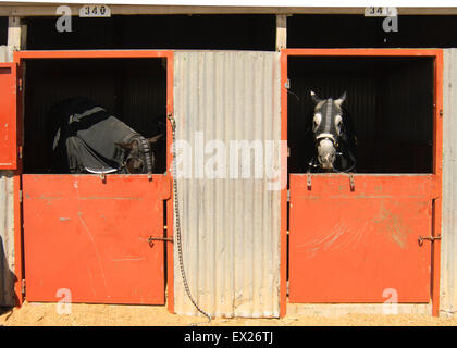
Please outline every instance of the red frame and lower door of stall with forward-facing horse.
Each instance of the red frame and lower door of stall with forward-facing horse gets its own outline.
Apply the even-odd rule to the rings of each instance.
[[[433,60],[433,171],[430,174],[313,174],[310,177],[289,174],[289,192],[286,188],[282,191],[282,315],[287,302],[287,275],[288,301],[293,303],[431,302],[433,315],[437,315],[443,52],[282,50],[283,140],[287,140],[289,122],[288,59],[304,57],[424,57]]]

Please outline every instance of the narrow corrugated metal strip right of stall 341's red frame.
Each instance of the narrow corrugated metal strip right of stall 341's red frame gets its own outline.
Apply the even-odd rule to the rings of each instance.
[[[457,311],[457,49],[444,51],[441,310]]]

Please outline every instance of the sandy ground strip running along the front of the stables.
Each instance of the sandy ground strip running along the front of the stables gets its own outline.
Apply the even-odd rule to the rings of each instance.
[[[454,319],[428,315],[348,314],[335,318],[287,315],[284,319],[214,319],[175,315],[165,307],[72,304],[70,314],[58,314],[57,303],[28,303],[0,311],[4,326],[457,326]]]

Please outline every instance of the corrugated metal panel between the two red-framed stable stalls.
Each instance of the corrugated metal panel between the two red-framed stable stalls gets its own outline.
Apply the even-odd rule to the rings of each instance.
[[[280,108],[279,53],[175,53],[176,136],[193,151],[203,150],[194,146],[200,135],[227,147],[230,140],[280,140]],[[193,178],[177,179],[193,296],[217,316],[279,316],[280,191],[268,190],[265,178],[198,178],[201,167],[194,161]],[[185,294],[176,245],[174,250],[175,312],[197,314]]]

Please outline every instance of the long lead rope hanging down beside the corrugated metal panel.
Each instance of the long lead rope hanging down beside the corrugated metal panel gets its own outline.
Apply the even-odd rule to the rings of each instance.
[[[177,254],[180,258],[180,269],[181,269],[181,277],[183,278],[184,288],[186,289],[186,294],[190,299],[190,302],[195,306],[195,308],[205,316],[208,318],[208,323],[211,322],[211,315],[205,312],[194,300],[192,296],[189,285],[187,283],[186,272],[184,271],[184,261],[183,261],[183,248],[181,241],[181,222],[180,222],[180,204],[177,202],[177,183],[176,183],[176,121],[173,117],[173,114],[168,114],[166,117],[170,120],[171,127],[172,127],[172,135],[173,135],[173,201],[174,201],[174,219],[175,219],[175,226],[176,226],[176,241],[177,241]]]

